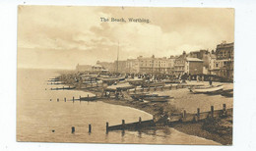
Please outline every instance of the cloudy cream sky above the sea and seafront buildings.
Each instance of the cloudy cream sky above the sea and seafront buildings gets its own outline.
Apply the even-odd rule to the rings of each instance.
[[[125,23],[101,22],[100,18]],[[128,18],[147,19],[147,23]],[[234,40],[234,10],[19,6],[18,68],[75,69],[138,56],[169,57]]]

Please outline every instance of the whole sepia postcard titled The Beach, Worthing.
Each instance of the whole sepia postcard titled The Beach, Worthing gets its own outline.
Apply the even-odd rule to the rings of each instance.
[[[233,144],[233,8],[19,5],[17,20],[17,141]]]

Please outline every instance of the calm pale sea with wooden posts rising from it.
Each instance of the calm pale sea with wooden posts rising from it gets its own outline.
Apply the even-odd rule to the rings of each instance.
[[[93,95],[74,90],[51,91],[47,79],[58,76],[55,71],[18,70],[17,140],[38,142],[100,142],[100,143],[157,143],[157,144],[218,144],[197,136],[187,135],[173,128],[158,130],[109,131],[105,123],[117,125],[152,119],[152,115],[129,107],[97,102],[75,102],[72,97]],[[64,102],[64,97],[68,99]],[[57,102],[59,98],[59,102]],[[52,99],[52,101],[50,101]],[[182,104],[182,102],[180,102]],[[92,133],[88,126],[92,125]],[[71,127],[76,132],[71,133]],[[55,130],[55,132],[52,132]]]

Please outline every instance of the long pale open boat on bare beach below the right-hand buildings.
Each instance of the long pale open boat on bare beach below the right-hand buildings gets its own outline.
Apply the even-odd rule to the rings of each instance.
[[[224,85],[209,85],[209,86],[197,86],[190,88],[193,93],[218,93],[222,92]]]

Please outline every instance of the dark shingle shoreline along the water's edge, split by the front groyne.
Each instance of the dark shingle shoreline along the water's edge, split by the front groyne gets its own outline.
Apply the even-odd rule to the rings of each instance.
[[[74,85],[75,86],[75,85]],[[75,90],[81,90],[84,92],[90,92],[97,96],[100,96],[101,92],[99,89],[92,89],[92,90],[85,90],[81,88],[75,88]],[[131,107],[137,110],[141,110],[144,112],[147,112],[151,114],[155,119],[160,119],[160,116],[162,114],[180,114],[182,113],[181,109],[178,109],[174,106],[171,106],[167,103],[154,103],[154,104],[147,104],[144,102],[138,102],[138,101],[131,101],[129,99],[114,99],[114,98],[100,98],[98,101],[102,101],[104,103],[113,104],[113,105],[121,105],[126,107]],[[230,117],[228,117],[230,119]],[[232,117],[231,117],[232,119]],[[203,120],[197,123],[193,122],[186,122],[186,123],[175,123],[172,124],[169,127],[173,127],[174,129],[189,134],[194,135],[198,137],[202,137],[205,139],[213,140],[218,143],[221,143],[222,145],[231,145],[232,144],[232,120],[229,122],[227,120],[227,123],[230,123],[227,129],[226,127],[221,126],[222,124],[216,124],[220,121],[220,119],[214,119],[214,121],[209,122],[209,120]],[[225,119],[222,119],[222,122],[226,123]],[[213,124],[216,124],[213,126]],[[208,125],[208,126],[207,126]],[[156,126],[156,128],[160,128]],[[211,129],[222,129],[223,131],[217,132],[213,131]],[[230,130],[231,129],[231,130]]]

